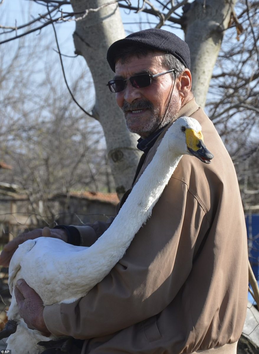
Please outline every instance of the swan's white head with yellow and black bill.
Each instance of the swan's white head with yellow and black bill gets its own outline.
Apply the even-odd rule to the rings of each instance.
[[[203,142],[200,123],[191,117],[180,117],[168,129],[172,129],[174,141],[179,152],[184,155],[193,155],[205,164],[210,164],[213,155]]]

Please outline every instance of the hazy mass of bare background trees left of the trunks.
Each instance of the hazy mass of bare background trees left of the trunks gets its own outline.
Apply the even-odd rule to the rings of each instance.
[[[47,201],[53,194],[86,189],[108,192],[114,188],[113,180],[101,126],[93,118],[86,119],[72,97],[66,97],[67,89],[58,82],[59,67],[49,63],[39,72],[42,53],[34,44],[28,45],[27,38],[21,40],[10,61],[0,47],[0,160],[8,160],[13,167],[0,174],[0,182],[21,186],[30,200],[29,211],[50,216],[54,210]],[[44,77],[36,80],[34,72]],[[76,96],[90,91],[82,79],[85,70],[71,75]],[[86,100],[88,95],[82,96]],[[43,202],[40,210],[39,201]]]

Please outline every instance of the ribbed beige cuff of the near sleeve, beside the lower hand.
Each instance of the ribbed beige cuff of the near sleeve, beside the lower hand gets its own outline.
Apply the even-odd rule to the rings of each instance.
[[[55,336],[66,334],[65,327],[61,320],[61,304],[45,306],[43,319],[47,329]]]

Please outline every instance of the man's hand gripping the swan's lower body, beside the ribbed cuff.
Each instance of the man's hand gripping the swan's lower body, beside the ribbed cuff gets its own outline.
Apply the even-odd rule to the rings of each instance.
[[[19,279],[16,282],[15,297],[19,308],[19,314],[31,330],[38,330],[43,335],[49,336],[43,319],[43,302],[40,296],[25,282]]]

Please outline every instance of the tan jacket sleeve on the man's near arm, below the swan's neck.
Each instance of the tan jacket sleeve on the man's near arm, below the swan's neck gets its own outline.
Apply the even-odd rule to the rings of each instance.
[[[134,222],[134,221],[131,221]],[[54,335],[109,335],[160,313],[184,284],[209,223],[188,185],[172,177],[151,217],[111,272],[70,304],[44,309]]]

